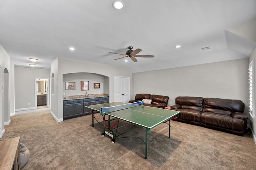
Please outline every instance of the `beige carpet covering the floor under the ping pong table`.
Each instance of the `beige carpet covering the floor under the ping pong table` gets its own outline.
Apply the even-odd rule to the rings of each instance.
[[[102,121],[99,113],[98,120]],[[148,133],[148,159],[140,139],[102,137],[91,115],[57,123],[50,109],[11,117],[2,139],[21,137],[30,151],[24,170],[255,170],[256,145],[250,132],[243,137],[171,121]],[[121,133],[121,131],[120,131]],[[145,129],[126,135],[144,139]]]

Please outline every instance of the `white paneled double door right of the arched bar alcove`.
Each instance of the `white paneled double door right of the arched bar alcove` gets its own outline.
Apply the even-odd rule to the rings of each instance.
[[[115,76],[115,102],[130,100],[130,77]]]

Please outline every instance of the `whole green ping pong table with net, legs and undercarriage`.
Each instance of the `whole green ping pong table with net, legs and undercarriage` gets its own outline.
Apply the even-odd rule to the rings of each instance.
[[[146,146],[145,149],[145,159],[147,159],[148,153],[148,130],[153,129],[154,127],[166,123],[169,125],[169,138],[170,138],[170,121],[176,115],[180,113],[180,111],[168,110],[168,109],[161,109],[157,107],[149,107],[143,106],[143,101],[135,102],[135,103],[123,103],[123,102],[112,102],[112,103],[105,103],[105,104],[97,104],[92,106],[86,106],[90,109],[92,113],[92,126],[94,126],[94,119],[100,124],[100,122],[95,118],[94,113],[95,111],[99,112],[102,115],[104,126],[101,127],[104,129],[102,136],[108,135],[111,137],[112,143],[115,143],[116,137],[123,137],[123,138],[136,138],[140,139]],[[106,115],[108,116],[106,118]],[[110,119],[110,117],[113,117]],[[124,137],[121,136],[124,133],[117,135],[118,130],[118,123],[119,120],[126,121],[127,125],[132,123],[136,125],[132,129],[128,129],[124,133],[127,133],[137,127],[143,127],[146,129],[146,138],[145,141],[140,137]],[[114,125],[110,127],[110,122],[115,121]],[[124,125],[120,126],[123,127]],[[113,131],[115,129],[115,132]]]

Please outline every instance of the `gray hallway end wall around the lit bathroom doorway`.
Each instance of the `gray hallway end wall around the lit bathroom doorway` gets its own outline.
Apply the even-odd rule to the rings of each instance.
[[[36,108],[36,78],[50,78],[50,69],[14,67],[15,111]]]

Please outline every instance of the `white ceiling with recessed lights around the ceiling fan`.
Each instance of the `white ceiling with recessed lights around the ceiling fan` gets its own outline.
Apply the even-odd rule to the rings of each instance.
[[[256,46],[256,0],[123,0],[122,10],[112,2],[0,0],[0,44],[15,66],[37,58],[36,68],[50,68],[64,57],[133,73],[243,59]],[[128,46],[155,57],[113,61],[122,55],[108,52],[125,54]]]

